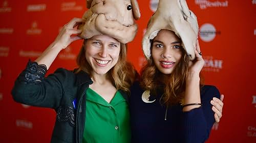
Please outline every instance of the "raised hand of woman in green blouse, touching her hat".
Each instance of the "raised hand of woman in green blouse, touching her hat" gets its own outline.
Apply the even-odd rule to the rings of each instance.
[[[78,34],[82,33],[82,30],[77,30],[76,26],[84,22],[81,18],[73,18],[67,24],[65,24],[59,35],[54,41],[54,44],[61,49],[67,48],[73,41],[82,39]]]

